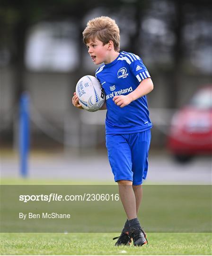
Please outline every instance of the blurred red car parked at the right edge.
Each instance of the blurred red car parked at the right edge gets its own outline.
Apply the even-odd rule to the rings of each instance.
[[[212,86],[198,90],[171,120],[168,149],[180,162],[212,154]]]

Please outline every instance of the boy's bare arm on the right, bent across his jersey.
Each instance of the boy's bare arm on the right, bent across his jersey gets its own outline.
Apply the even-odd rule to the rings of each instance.
[[[135,101],[138,98],[141,98],[142,96],[147,95],[152,90],[153,90],[153,82],[151,78],[146,78],[141,81],[141,83],[138,85],[138,87],[134,91],[132,91],[127,95],[115,96],[113,98],[113,101],[117,106],[120,106],[121,108],[123,108],[129,105],[132,101]]]

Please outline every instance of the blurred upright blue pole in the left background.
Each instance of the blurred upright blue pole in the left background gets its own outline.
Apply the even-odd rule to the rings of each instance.
[[[29,155],[29,95],[27,92],[23,92],[20,97],[19,111],[20,174],[22,177],[26,177]]]

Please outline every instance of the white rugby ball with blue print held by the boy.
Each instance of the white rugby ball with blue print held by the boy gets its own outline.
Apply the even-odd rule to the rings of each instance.
[[[85,75],[79,79],[76,94],[83,109],[90,112],[100,110],[105,102],[105,92],[98,79],[92,75]]]

